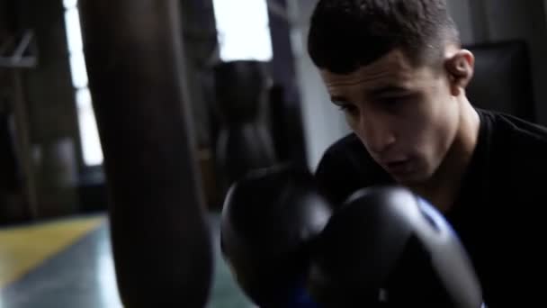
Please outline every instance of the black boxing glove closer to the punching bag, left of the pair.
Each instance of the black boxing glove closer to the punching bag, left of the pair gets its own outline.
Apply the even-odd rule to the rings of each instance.
[[[304,283],[312,242],[330,215],[306,168],[265,168],[230,187],[221,214],[221,251],[254,303],[316,307]]]

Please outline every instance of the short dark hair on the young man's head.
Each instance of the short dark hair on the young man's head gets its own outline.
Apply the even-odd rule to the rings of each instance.
[[[309,56],[344,74],[400,49],[415,66],[460,44],[445,0],[319,0],[310,18]]]

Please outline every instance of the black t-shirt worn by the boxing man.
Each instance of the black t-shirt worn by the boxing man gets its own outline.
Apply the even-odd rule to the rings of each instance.
[[[477,109],[480,133],[448,222],[468,250],[489,307],[547,306],[547,129]],[[318,186],[341,204],[365,186],[394,184],[350,134],[325,152]],[[514,305],[516,304],[516,305]]]

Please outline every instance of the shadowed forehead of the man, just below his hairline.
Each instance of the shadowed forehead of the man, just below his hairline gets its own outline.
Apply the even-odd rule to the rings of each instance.
[[[412,66],[400,50],[393,50],[381,59],[348,74],[336,74],[321,69],[320,74],[327,87],[353,86],[356,84],[396,80],[408,77]]]

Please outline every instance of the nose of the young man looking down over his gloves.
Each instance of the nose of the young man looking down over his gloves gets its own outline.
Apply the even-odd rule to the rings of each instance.
[[[395,134],[388,119],[381,115],[362,116],[359,124],[359,134],[367,149],[373,154],[381,155],[395,143]]]

